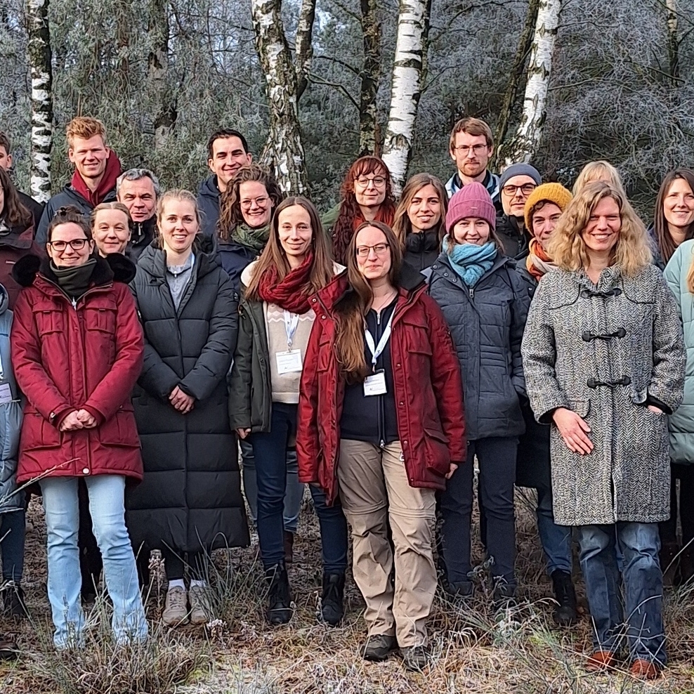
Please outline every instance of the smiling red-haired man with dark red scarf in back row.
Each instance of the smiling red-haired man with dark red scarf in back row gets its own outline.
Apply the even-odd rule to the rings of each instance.
[[[65,136],[67,157],[74,165],[74,174],[70,183],[46,204],[36,235],[39,246],[46,243],[48,224],[60,207],[74,205],[82,214],[90,214],[98,204],[116,199],[121,163],[106,145],[103,123],[96,118],[73,118],[67,124]]]

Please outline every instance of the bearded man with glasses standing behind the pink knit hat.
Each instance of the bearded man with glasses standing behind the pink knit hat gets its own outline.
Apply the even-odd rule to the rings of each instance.
[[[487,169],[494,152],[492,129],[478,118],[463,118],[451,133],[449,151],[457,171],[446,183],[449,199],[464,185],[477,181],[492,196],[499,210],[499,176]]]

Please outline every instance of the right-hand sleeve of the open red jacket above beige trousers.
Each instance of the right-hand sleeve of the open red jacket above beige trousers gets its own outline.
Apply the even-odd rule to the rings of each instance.
[[[461,463],[467,457],[465,439],[465,415],[463,379],[450,329],[443,313],[431,296],[423,295],[424,310],[428,318],[431,352],[431,387],[436,402],[443,433],[448,439],[451,462]]]

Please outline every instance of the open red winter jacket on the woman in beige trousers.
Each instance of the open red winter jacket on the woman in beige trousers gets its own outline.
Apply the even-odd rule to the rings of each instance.
[[[390,345],[398,433],[410,485],[445,489],[450,463],[466,457],[460,367],[443,313],[424,293],[424,277],[412,273],[409,283],[402,282],[407,288],[399,290]],[[316,320],[299,391],[299,480],[319,484],[328,504],[337,495],[345,390],[334,351],[334,306],[348,292],[345,272],[310,300]]]

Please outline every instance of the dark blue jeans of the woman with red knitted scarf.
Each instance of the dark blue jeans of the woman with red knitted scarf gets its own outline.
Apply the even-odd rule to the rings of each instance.
[[[282,520],[287,488],[287,444],[296,433],[296,405],[273,402],[270,431],[251,434],[258,483],[258,539],[266,569],[284,562]],[[320,525],[323,569],[343,572],[347,567],[347,520],[339,504],[325,505],[325,495],[311,487]]]

